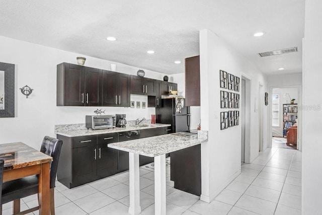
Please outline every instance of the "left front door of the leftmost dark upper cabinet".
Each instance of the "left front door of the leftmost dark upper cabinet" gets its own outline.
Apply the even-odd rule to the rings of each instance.
[[[65,106],[85,105],[85,67],[64,63],[64,104]]]

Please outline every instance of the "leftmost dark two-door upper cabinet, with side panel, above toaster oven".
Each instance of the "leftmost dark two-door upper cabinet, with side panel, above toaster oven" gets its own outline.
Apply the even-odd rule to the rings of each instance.
[[[57,65],[57,106],[101,106],[102,70],[71,63]]]

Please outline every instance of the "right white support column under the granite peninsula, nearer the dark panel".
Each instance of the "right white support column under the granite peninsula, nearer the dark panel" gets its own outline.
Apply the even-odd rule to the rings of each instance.
[[[154,157],[155,215],[166,215],[166,155]]]

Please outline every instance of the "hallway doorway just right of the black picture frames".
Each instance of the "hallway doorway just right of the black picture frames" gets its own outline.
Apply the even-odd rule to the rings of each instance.
[[[250,137],[251,137],[251,78],[241,75],[241,104],[240,104],[240,123],[241,123],[241,163],[250,163]]]

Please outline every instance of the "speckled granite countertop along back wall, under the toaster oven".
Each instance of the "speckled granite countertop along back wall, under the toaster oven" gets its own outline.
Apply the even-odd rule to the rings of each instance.
[[[98,129],[98,130],[91,130],[91,129],[62,130],[62,131],[58,131],[56,134],[60,134],[68,137],[75,137],[75,136],[87,136],[87,135],[95,135],[95,134],[103,134],[103,133],[116,133],[116,132],[130,131],[130,130],[142,130],[142,129],[168,127],[168,126],[171,126],[171,124],[147,124],[144,126],[127,125],[124,128],[116,127],[116,128]]]

